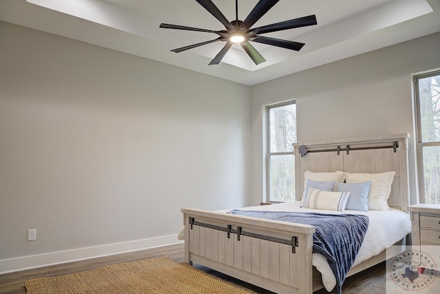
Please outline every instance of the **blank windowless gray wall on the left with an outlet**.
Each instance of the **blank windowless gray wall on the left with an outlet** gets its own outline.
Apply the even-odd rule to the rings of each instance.
[[[249,86],[4,22],[0,43],[0,272],[246,204]]]

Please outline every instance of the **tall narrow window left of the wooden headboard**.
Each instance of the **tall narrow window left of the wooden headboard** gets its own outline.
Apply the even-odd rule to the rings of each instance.
[[[295,200],[296,104],[270,105],[267,121],[267,201]]]

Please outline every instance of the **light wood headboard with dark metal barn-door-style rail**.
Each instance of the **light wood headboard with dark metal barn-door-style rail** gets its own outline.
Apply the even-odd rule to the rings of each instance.
[[[295,193],[300,200],[304,172],[346,171],[382,173],[395,171],[388,205],[407,211],[409,204],[408,139],[410,134],[295,143]],[[303,148],[305,147],[305,149]],[[307,154],[303,157],[300,150]]]

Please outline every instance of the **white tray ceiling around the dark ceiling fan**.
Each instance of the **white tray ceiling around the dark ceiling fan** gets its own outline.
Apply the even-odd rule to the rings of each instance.
[[[239,0],[244,20],[257,0]],[[234,0],[213,0],[230,21]],[[234,45],[219,65],[217,34],[167,30],[160,23],[224,30],[195,0],[0,0],[0,20],[171,65],[254,85],[311,67],[440,31],[440,0],[281,0],[253,28],[316,14],[318,25],[265,34],[306,43],[300,52],[252,43],[267,60],[254,65]]]

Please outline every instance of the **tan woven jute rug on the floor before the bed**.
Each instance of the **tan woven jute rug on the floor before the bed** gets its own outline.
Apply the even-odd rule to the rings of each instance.
[[[255,293],[168,257],[103,266],[91,271],[25,282],[44,293]]]

